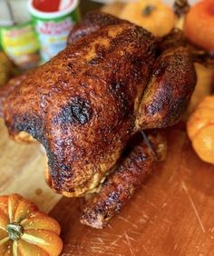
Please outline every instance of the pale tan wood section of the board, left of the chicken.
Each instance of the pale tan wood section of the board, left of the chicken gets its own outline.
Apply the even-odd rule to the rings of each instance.
[[[14,192],[37,203],[43,212],[49,212],[61,199],[44,182],[40,145],[10,140],[0,118],[0,195]]]

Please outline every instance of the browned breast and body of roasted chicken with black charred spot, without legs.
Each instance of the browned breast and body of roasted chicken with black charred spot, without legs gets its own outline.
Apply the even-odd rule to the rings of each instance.
[[[9,132],[44,144],[57,192],[92,190],[120,157],[154,55],[155,40],[143,28],[106,26],[70,44],[9,95]]]

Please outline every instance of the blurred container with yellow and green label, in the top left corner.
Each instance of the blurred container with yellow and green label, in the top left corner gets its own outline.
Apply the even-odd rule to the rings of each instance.
[[[39,44],[25,0],[0,1],[0,44],[9,58],[20,68],[34,67]]]

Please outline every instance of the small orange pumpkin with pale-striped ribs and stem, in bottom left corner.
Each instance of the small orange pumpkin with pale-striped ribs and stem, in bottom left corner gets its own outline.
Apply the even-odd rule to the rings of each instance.
[[[58,256],[60,225],[18,194],[0,196],[0,255]]]

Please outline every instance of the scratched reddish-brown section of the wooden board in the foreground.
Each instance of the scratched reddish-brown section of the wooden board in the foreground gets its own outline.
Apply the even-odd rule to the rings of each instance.
[[[168,157],[109,227],[79,222],[80,201],[63,198],[63,255],[214,255],[214,165],[201,162],[183,128],[168,130]]]

